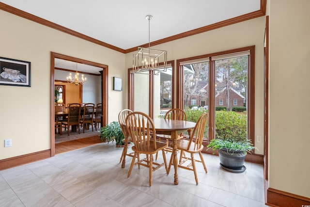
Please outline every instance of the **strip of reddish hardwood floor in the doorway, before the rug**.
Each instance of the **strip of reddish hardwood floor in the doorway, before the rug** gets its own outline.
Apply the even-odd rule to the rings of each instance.
[[[98,135],[92,137],[81,138],[77,140],[71,140],[62,143],[55,143],[55,154],[68,152],[71,150],[79,149],[82,147],[90,146],[96,143],[101,143]]]

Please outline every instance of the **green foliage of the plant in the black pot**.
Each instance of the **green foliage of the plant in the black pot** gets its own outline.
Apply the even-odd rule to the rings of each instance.
[[[250,140],[246,141],[235,141],[235,140],[222,140],[222,139],[213,139],[209,142],[207,146],[208,149],[212,150],[226,150],[228,153],[233,154],[236,150],[240,150],[243,153],[251,153],[256,147],[253,146]],[[213,153],[214,154],[214,153]]]

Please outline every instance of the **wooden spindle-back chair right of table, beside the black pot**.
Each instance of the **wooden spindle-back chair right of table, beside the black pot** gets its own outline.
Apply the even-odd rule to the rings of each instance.
[[[202,139],[203,139],[203,134],[205,130],[205,126],[208,120],[208,113],[204,112],[202,115],[199,117],[196,126],[194,130],[192,131],[189,140],[187,139],[180,139],[177,141],[177,149],[181,151],[180,153],[180,161],[178,164],[178,167],[190,170],[194,172],[195,175],[195,181],[196,185],[198,185],[198,176],[197,176],[197,171],[196,171],[196,161],[197,162],[202,162],[204,171],[207,173],[207,168],[205,166],[203,157],[202,157]],[[173,143],[171,143],[171,147],[173,147]],[[186,157],[185,153],[189,153],[190,157]],[[199,154],[200,160],[194,158],[194,154]],[[169,168],[168,168],[168,174],[170,172],[171,164],[173,163],[173,154],[171,154],[171,159],[169,163]],[[190,160],[191,163],[187,164],[186,161]],[[187,164],[186,166],[184,164]]]

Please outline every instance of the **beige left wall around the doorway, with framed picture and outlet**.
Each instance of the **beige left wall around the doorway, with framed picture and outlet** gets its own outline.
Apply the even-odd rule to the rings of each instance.
[[[113,76],[127,84],[123,53],[0,10],[0,57],[31,62],[31,87],[0,85],[0,159],[50,149],[50,52],[109,65],[109,122],[126,107],[112,90]],[[4,139],[12,139],[4,147]]]

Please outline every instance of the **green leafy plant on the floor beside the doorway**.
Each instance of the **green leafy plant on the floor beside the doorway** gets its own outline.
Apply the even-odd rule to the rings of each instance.
[[[124,140],[124,134],[120,123],[113,121],[107,124],[105,127],[99,129],[101,141],[116,142],[117,145],[122,145]]]

